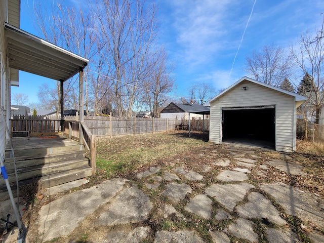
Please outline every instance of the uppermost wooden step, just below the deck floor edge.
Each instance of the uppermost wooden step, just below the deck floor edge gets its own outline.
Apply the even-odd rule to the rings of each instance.
[[[84,159],[85,157],[84,150],[67,151],[67,152],[46,155],[45,157],[34,157],[34,158],[23,159],[23,160],[21,158],[17,158],[18,160],[16,159],[16,167],[18,170],[20,169],[23,170],[26,167],[43,166],[45,164],[59,163],[60,161]],[[14,170],[15,165],[14,165],[13,158],[5,159],[5,166],[7,171]]]

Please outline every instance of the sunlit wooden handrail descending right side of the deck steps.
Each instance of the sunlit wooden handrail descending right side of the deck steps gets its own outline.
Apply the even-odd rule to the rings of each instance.
[[[80,133],[80,130],[82,131]],[[92,173],[96,173],[96,135],[91,134],[85,123],[80,123],[77,120],[64,120],[65,136],[79,141],[85,146],[90,155],[90,166]]]

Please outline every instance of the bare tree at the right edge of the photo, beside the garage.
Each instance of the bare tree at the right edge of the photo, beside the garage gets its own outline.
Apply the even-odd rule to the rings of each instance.
[[[303,95],[308,97],[308,102],[315,110],[315,124],[319,122],[320,110],[324,102],[324,17],[320,29],[314,34],[305,31],[299,39],[299,47],[291,47],[291,54],[303,71],[308,75],[311,85]]]

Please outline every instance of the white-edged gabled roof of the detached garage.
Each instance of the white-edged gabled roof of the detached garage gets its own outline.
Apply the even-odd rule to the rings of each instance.
[[[227,93],[228,91],[230,91],[232,88],[234,88],[235,86],[239,85],[241,82],[244,82],[245,80],[251,82],[251,83],[255,83],[257,85],[261,85],[261,86],[264,86],[266,88],[269,88],[269,89],[272,89],[272,90],[275,90],[277,92],[280,92],[280,93],[284,93],[286,95],[289,95],[289,96],[292,96],[292,97],[295,97],[295,100],[296,101],[302,101],[304,102],[305,100],[307,100],[307,97],[305,96],[302,96],[302,95],[299,95],[299,94],[295,94],[293,92],[290,92],[290,91],[287,91],[287,90],[282,90],[278,87],[274,87],[272,85],[268,85],[268,84],[265,84],[265,83],[262,83],[262,82],[259,82],[255,79],[252,79],[250,77],[242,77],[241,79],[239,79],[235,84],[231,85],[230,87],[228,87],[226,90],[224,90],[223,92],[219,93],[218,95],[216,95],[214,98],[212,98],[211,100],[207,101],[204,105],[205,106],[210,106],[210,103],[213,102],[214,100],[218,99],[219,97],[223,96],[225,93]]]

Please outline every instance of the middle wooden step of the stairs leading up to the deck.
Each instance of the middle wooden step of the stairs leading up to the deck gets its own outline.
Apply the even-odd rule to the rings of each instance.
[[[58,163],[24,167],[23,169],[19,169],[17,174],[18,174],[19,181],[21,181],[21,180],[27,180],[31,178],[41,178],[43,176],[48,176],[51,174],[57,174],[60,172],[75,170],[84,167],[89,167],[89,159],[87,158],[73,159],[67,161],[60,161]],[[6,170],[8,173],[9,182],[14,182],[16,180],[14,169],[8,170],[6,167]],[[0,180],[0,185],[2,184],[5,184],[4,180]]]

